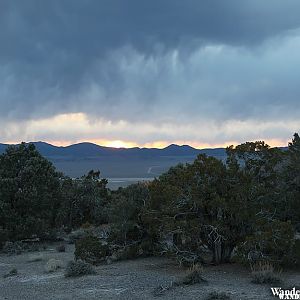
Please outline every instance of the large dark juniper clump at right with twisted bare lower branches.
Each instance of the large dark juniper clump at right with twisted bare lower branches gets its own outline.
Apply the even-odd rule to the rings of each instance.
[[[229,147],[226,164],[199,155],[178,165],[149,186],[150,199],[141,219],[161,253],[181,263],[231,259],[251,253],[271,261],[291,258],[299,223],[300,139],[284,152],[264,142]]]

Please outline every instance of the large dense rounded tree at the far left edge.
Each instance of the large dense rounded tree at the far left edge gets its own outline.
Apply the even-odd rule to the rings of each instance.
[[[0,199],[8,240],[43,236],[60,203],[60,173],[33,144],[9,146],[0,155]]]

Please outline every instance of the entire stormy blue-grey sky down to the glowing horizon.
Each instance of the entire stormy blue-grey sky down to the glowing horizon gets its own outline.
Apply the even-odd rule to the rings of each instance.
[[[0,142],[286,145],[299,13],[298,0],[1,0]]]

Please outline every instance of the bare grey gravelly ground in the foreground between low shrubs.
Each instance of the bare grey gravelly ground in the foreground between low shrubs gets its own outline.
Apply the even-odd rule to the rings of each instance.
[[[33,299],[206,299],[210,292],[226,292],[231,299],[278,299],[271,295],[270,287],[251,283],[249,270],[235,265],[211,266],[204,269],[207,283],[173,287],[160,297],[153,291],[167,286],[185,275],[173,261],[165,258],[144,258],[98,266],[97,275],[65,278],[64,270],[45,271],[50,258],[63,261],[73,259],[74,246],[58,253],[55,246],[41,252],[39,261],[29,262],[33,253],[0,255],[0,300]],[[18,274],[3,278],[16,268]],[[300,283],[300,271],[283,273],[286,287]]]

